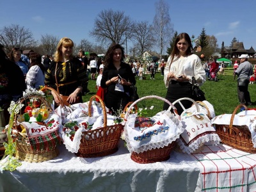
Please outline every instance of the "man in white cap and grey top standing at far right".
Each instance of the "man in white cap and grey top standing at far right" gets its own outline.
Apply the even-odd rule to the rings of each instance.
[[[252,105],[250,93],[248,92],[248,84],[250,76],[253,74],[252,64],[248,61],[248,54],[241,54],[238,57],[240,59],[240,65],[236,70],[237,74],[237,95],[241,104],[246,106]],[[241,83],[243,82],[243,83]]]

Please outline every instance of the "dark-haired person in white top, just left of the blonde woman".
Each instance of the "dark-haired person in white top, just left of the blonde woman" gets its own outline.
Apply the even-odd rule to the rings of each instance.
[[[40,86],[44,86],[45,68],[41,63],[41,56],[36,52],[29,54],[30,68],[26,76],[27,89],[39,90]]]

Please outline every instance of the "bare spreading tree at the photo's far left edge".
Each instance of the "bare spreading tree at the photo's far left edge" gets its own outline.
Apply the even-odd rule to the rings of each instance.
[[[20,27],[19,24],[11,24],[0,30],[0,44],[10,52],[13,47],[26,49],[26,47],[35,46],[36,41],[29,29]]]

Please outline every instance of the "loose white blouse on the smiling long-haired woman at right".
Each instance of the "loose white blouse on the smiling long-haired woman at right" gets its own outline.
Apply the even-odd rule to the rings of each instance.
[[[206,81],[206,74],[201,63],[200,58],[196,54],[191,54],[184,58],[179,58],[175,56],[171,64],[171,56],[168,58],[166,67],[164,68],[164,84],[166,88],[169,86],[169,82],[172,79],[167,81],[167,74],[173,72],[175,76],[181,74],[189,78],[189,83],[192,83],[192,77],[195,77],[196,83],[200,86]]]

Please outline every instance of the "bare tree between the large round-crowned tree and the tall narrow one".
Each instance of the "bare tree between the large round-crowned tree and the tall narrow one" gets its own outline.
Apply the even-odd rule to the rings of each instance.
[[[132,37],[134,38],[134,44],[138,47],[139,56],[142,56],[143,52],[150,50],[154,43],[152,25],[148,24],[147,21],[138,22]]]

